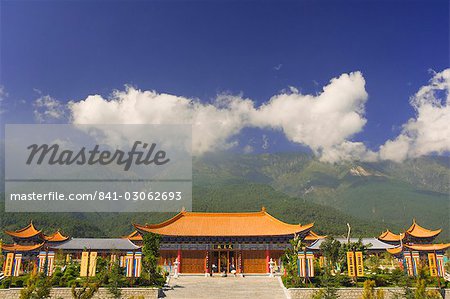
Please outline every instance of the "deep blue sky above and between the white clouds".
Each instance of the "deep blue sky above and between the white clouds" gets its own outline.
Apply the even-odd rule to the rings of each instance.
[[[67,102],[143,90],[255,105],[294,86],[317,94],[361,71],[370,149],[414,116],[409,98],[449,66],[448,1],[2,1],[2,123],[34,122],[41,94]],[[239,140],[283,135],[244,129]],[[274,141],[275,140],[275,141]],[[244,142],[245,143],[245,142]]]

